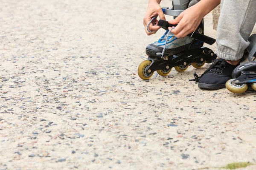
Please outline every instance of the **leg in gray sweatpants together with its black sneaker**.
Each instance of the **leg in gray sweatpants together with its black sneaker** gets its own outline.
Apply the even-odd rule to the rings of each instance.
[[[256,0],[221,0],[221,14],[217,28],[217,56],[213,64],[197,78],[198,87],[225,88],[239,65],[248,38],[256,22]]]

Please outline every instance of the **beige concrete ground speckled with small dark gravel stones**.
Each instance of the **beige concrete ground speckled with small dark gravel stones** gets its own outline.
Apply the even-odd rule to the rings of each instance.
[[[255,92],[207,91],[188,81],[209,64],[138,77],[145,46],[164,33],[145,34],[147,2],[1,1],[1,170],[255,163]],[[205,25],[215,37],[212,14]]]

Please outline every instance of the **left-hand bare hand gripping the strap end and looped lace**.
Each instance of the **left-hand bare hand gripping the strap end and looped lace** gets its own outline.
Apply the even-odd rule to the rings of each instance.
[[[146,11],[144,19],[143,19],[143,25],[144,25],[145,31],[148,35],[155,34],[157,32],[157,30],[159,30],[161,28],[160,26],[157,26],[157,23],[158,23],[157,18],[155,18],[152,21],[152,23],[150,23],[148,26],[149,21],[157,15],[160,17],[160,19],[166,20],[159,3],[157,3],[156,0],[155,1],[150,0],[148,2],[148,8],[147,8],[147,11]],[[156,24],[153,25],[153,23],[156,23]],[[148,26],[148,29],[152,32],[148,32],[147,26]]]

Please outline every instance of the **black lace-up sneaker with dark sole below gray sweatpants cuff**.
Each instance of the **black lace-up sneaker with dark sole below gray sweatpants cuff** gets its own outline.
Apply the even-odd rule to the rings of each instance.
[[[232,79],[232,72],[238,65],[231,65],[224,59],[215,59],[204,74],[200,77],[195,74],[195,81],[198,82],[199,88],[212,90],[225,88],[227,80]]]

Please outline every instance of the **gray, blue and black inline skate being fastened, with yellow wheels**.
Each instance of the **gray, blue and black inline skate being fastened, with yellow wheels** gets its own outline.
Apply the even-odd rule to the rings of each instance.
[[[162,10],[166,15],[177,17],[183,10],[198,2],[199,0],[173,0],[172,9],[165,7]],[[204,42],[210,45],[215,42],[215,39],[204,35],[204,20],[194,32],[184,38],[177,38],[171,34],[168,28],[174,25],[167,21],[159,20],[157,25],[167,31],[158,41],[146,47],[148,59],[141,62],[138,67],[141,79],[150,79],[154,71],[160,76],[167,76],[173,67],[178,72],[186,71],[189,65],[201,68],[205,62],[211,63],[216,59],[215,53],[203,46]]]

